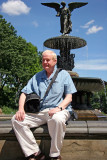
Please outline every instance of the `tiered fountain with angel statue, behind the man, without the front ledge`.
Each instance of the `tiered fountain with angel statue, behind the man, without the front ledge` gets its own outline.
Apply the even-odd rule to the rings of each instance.
[[[60,56],[57,56],[57,66],[58,68],[63,68],[69,72],[78,91],[73,94],[72,100],[72,106],[78,114],[78,120],[106,119],[106,116],[100,111],[94,110],[90,104],[92,92],[98,92],[104,89],[103,81],[100,78],[79,77],[78,73],[72,71],[74,68],[75,54],[70,54],[70,50],[84,47],[87,45],[87,42],[82,38],[69,35],[72,31],[70,12],[76,8],[87,5],[88,3],[72,2],[68,4],[68,8],[66,8],[65,2],[61,2],[61,8],[59,3],[52,2],[41,4],[54,8],[57,11],[56,16],[60,16],[60,32],[62,35],[47,39],[44,42],[44,46],[60,50]]]

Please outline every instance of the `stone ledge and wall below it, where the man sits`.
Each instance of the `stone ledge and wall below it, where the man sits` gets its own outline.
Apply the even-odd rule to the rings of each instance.
[[[33,128],[35,139],[48,159],[50,136],[47,125]],[[63,160],[106,160],[107,121],[68,121]],[[12,130],[10,117],[0,120],[0,160],[22,160],[24,155]]]

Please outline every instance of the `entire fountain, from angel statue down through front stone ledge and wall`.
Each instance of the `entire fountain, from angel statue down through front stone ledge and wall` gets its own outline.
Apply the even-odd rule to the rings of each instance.
[[[42,4],[55,8],[57,16],[60,16],[62,33],[61,36],[47,39],[44,46],[60,50],[58,67],[69,72],[77,88],[77,93],[73,94],[72,106],[78,114],[78,119],[68,121],[61,151],[63,160],[105,160],[107,159],[106,116],[98,110],[92,109],[90,105],[92,92],[103,89],[103,81],[99,78],[79,77],[78,73],[72,71],[75,66],[75,54],[71,54],[70,51],[84,47],[87,43],[82,38],[69,35],[72,31],[70,12],[87,3],[73,2],[68,4],[69,8],[65,7],[65,2],[61,2],[62,8],[58,3]],[[10,119],[11,115],[0,116],[0,159],[7,160],[8,157],[8,160],[22,160],[24,155],[12,130]],[[32,132],[41,147],[41,151],[47,156],[50,148],[47,125],[32,128]]]

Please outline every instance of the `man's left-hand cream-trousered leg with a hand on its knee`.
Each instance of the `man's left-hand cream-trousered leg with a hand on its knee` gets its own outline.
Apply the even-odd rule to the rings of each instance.
[[[43,117],[42,119],[40,117],[42,117],[42,113],[39,114],[39,116],[36,114],[35,116],[29,116],[26,114],[23,121],[16,120],[15,116],[12,118],[12,127],[25,157],[29,157],[31,155],[36,156],[36,154],[41,152],[38,144],[36,143],[35,137],[30,130],[30,128],[38,127],[46,123],[46,121],[43,120]]]

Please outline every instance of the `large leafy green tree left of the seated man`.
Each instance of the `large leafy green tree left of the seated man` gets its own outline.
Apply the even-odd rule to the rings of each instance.
[[[13,108],[17,106],[23,86],[42,70],[37,47],[16,33],[0,15],[0,105]]]

